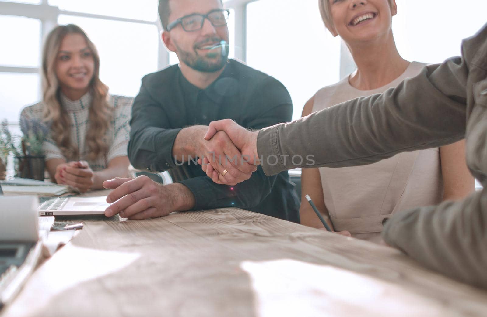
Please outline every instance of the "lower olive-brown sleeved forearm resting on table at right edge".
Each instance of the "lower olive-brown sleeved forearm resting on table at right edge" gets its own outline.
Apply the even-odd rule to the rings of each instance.
[[[421,264],[462,282],[487,288],[487,190],[393,216],[386,243]]]

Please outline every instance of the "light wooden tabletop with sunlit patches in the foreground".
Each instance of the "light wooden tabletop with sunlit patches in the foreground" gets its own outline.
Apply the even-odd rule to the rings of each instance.
[[[399,251],[235,208],[85,227],[1,316],[487,316]]]

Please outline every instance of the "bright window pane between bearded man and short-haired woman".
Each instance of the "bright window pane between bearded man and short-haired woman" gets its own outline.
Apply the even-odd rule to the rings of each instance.
[[[317,1],[251,2],[247,4],[247,64],[288,89],[295,120],[319,88],[339,80],[340,40],[325,30]]]

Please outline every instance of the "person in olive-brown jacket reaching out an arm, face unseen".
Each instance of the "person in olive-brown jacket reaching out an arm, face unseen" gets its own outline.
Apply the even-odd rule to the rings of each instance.
[[[313,155],[315,167],[343,167],[465,138],[468,168],[483,190],[461,201],[384,219],[383,238],[431,269],[487,288],[487,24],[462,43],[461,57],[427,66],[382,94],[260,131],[247,131],[229,120],[210,123],[205,139],[222,130],[243,154],[263,158],[255,163],[262,163],[266,175],[309,167],[307,161],[299,166],[292,160],[274,164],[267,159],[273,156]],[[222,166],[202,168],[215,181],[225,181]]]

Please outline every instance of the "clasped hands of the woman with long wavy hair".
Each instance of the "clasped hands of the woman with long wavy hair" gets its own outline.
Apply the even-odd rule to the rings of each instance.
[[[81,193],[87,192],[94,184],[95,174],[87,161],[74,161],[56,166],[56,183],[70,185]]]

